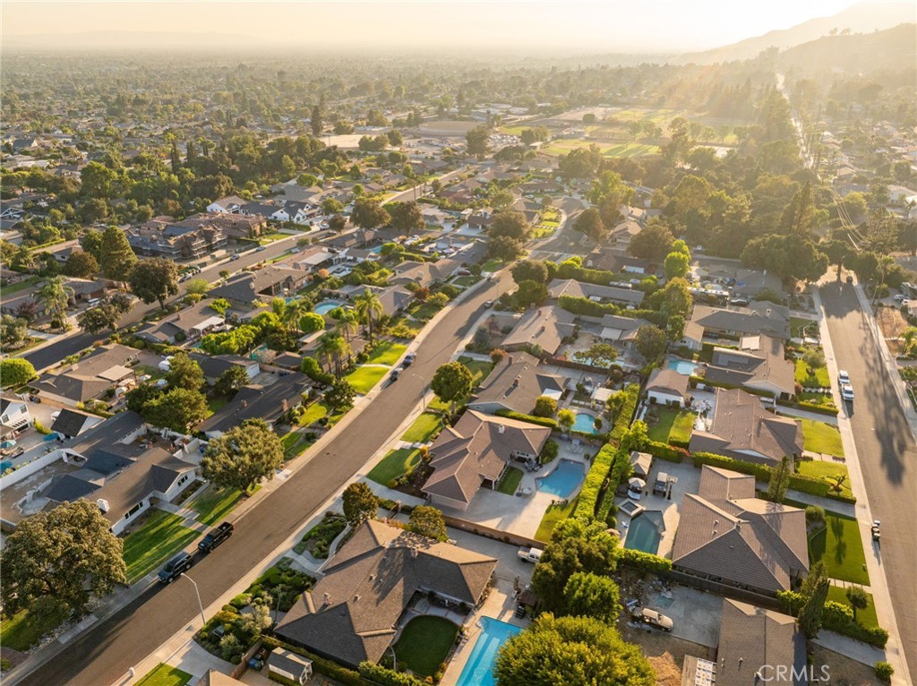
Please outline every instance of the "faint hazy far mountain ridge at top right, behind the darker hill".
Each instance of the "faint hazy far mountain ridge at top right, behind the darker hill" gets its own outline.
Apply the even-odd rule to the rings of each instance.
[[[728,18],[728,17],[725,17]],[[852,33],[869,33],[900,24],[917,21],[917,4],[912,2],[857,3],[831,17],[810,19],[792,28],[769,31],[763,36],[740,40],[714,50],[692,52],[672,59],[677,64],[713,64],[714,62],[750,60],[763,50],[778,48],[787,50],[802,43],[828,36],[832,29],[840,33],[850,29]],[[912,34],[911,34],[912,36]]]

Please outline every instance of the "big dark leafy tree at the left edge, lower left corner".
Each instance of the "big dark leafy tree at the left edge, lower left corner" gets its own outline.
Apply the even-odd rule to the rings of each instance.
[[[110,528],[98,505],[84,500],[23,519],[3,550],[4,612],[16,614],[44,600],[82,614],[92,595],[105,596],[127,583],[123,542]]]

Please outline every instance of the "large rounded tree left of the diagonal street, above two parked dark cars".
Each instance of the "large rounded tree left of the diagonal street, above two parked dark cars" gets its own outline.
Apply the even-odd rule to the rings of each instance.
[[[219,488],[249,492],[259,481],[271,481],[283,464],[283,445],[263,419],[247,419],[241,426],[211,439],[201,459],[201,474]]]

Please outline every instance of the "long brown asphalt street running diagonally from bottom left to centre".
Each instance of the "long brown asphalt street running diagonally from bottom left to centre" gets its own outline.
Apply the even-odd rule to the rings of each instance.
[[[264,253],[259,253],[264,257]],[[238,262],[236,263],[238,264]],[[344,487],[421,401],[436,368],[449,360],[458,342],[484,311],[484,302],[509,290],[504,275],[458,304],[430,331],[417,350],[415,373],[381,391],[321,453],[313,455],[275,492],[236,522],[236,533],[214,553],[197,559],[190,572],[204,606],[213,603]],[[152,587],[135,602],[74,639],[22,684],[105,686],[124,677],[197,614],[193,587],[175,583]]]

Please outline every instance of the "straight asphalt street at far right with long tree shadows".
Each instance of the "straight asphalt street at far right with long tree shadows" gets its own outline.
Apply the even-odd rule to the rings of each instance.
[[[917,674],[917,444],[854,287],[831,282],[820,291],[837,366],[850,374],[855,389],[853,404],[843,411],[850,417],[869,508],[882,522],[880,560],[902,649]]]

